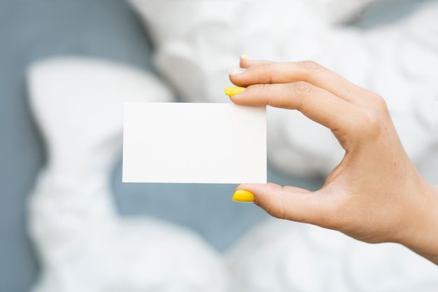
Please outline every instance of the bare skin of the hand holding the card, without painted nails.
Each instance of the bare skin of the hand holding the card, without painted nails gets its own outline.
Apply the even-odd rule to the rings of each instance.
[[[300,111],[332,130],[344,159],[320,190],[241,184],[271,216],[339,230],[363,242],[397,242],[438,264],[438,186],[404,151],[383,98],[315,62],[241,60],[230,74],[250,106]]]

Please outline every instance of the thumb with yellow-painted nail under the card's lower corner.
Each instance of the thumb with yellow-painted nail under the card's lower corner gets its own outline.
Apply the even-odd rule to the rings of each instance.
[[[291,221],[321,224],[327,218],[330,204],[325,197],[304,188],[279,186],[275,183],[245,183],[237,186],[232,200],[254,202],[271,216]]]

